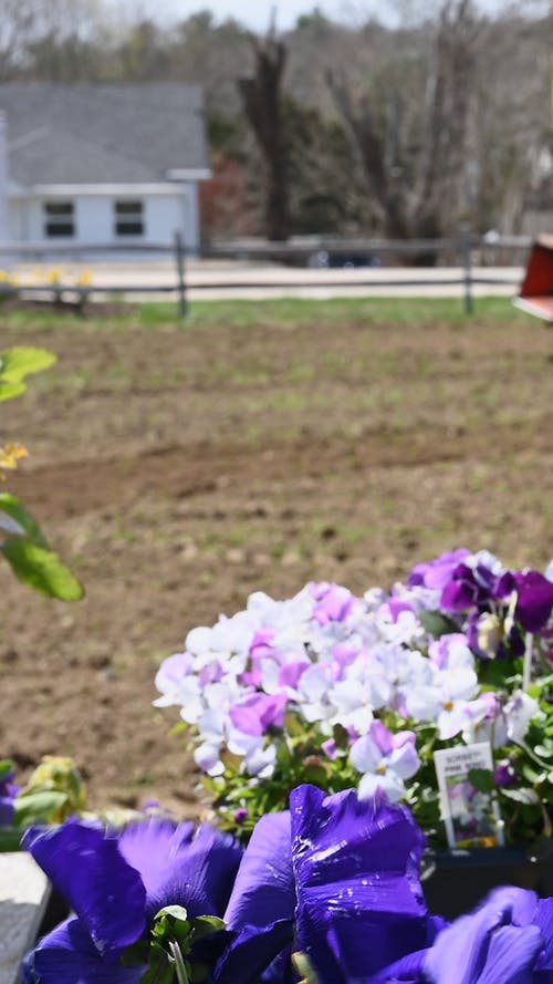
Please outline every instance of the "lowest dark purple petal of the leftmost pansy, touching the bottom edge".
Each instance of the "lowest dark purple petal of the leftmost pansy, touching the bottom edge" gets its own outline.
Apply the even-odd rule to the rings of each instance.
[[[137,984],[144,971],[103,960],[74,916],[44,936],[22,966],[25,984]]]

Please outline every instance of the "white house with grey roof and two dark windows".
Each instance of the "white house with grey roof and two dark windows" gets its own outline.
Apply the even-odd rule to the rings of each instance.
[[[196,85],[0,85],[14,242],[200,241],[198,183],[210,177]],[[2,237],[3,238],[3,237]]]

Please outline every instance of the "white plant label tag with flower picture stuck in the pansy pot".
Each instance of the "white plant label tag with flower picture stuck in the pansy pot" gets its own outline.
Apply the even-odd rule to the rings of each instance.
[[[457,745],[435,752],[441,819],[455,848],[503,846],[503,824],[495,797],[490,745]]]

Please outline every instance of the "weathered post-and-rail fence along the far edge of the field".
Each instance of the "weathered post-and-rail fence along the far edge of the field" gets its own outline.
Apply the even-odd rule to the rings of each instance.
[[[255,275],[250,281],[240,278],[236,279],[220,276],[219,279],[210,279],[209,282],[197,280],[194,289],[201,291],[202,289],[216,289],[218,291],[232,291],[240,287],[241,289],[274,289],[274,288],[310,288],[321,287],[322,280],[319,276],[316,282],[313,280],[314,268],[333,267],[378,267],[382,276],[375,276],[373,269],[371,278],[366,281],[363,277],[357,277],[355,286],[373,287],[373,288],[397,288],[400,282],[404,288],[425,287],[436,284],[436,277],[430,276],[430,268],[435,268],[441,258],[441,270],[451,269],[451,276],[440,277],[441,286],[458,286],[461,288],[465,310],[470,313],[473,310],[473,288],[477,284],[493,286],[508,284],[509,280],[504,277],[499,278],[491,272],[487,275],[482,272],[481,266],[474,267],[474,258],[478,257],[479,263],[490,262],[498,256],[522,259],[532,240],[526,236],[473,236],[469,229],[461,229],[457,238],[448,239],[417,239],[417,240],[382,240],[382,239],[337,239],[332,237],[304,237],[291,239],[286,242],[268,242],[260,240],[232,240],[228,242],[212,242],[197,250],[188,250],[182,241],[180,234],[176,234],[173,245],[169,244],[133,244],[133,245],[114,245],[114,244],[96,244],[96,245],[76,245],[76,244],[0,244],[0,267],[2,259],[14,261],[51,261],[52,259],[65,260],[70,262],[94,262],[94,257],[106,260],[114,259],[152,259],[173,258],[175,279],[171,283],[140,283],[140,282],[121,282],[101,284],[64,284],[61,280],[58,282],[34,282],[24,286],[14,286],[9,281],[0,283],[0,292],[4,294],[24,294],[36,299],[56,300],[60,303],[73,301],[79,305],[83,305],[90,299],[91,293],[98,296],[132,297],[133,294],[177,294],[178,310],[181,317],[186,315],[188,303],[188,289],[190,286],[190,277],[187,272],[186,260],[188,257],[202,259],[231,259],[242,261],[271,261],[280,263],[283,267],[301,267],[302,277],[294,278],[293,284],[288,282],[279,282],[278,279],[271,277],[270,281],[263,281],[262,271]],[[392,267],[396,269],[400,266],[408,265],[408,260],[415,260],[417,266],[409,268],[409,278],[392,277]],[[386,260],[388,266],[382,266]],[[407,262],[406,262],[407,260]],[[457,261],[457,263],[456,263]],[[497,261],[497,260],[495,260]],[[424,266],[422,266],[424,262]],[[456,272],[455,265],[460,272]],[[420,266],[419,266],[420,265]],[[388,271],[388,272],[386,272]],[[303,276],[304,273],[304,276]],[[311,279],[310,279],[311,277]],[[333,287],[351,286],[352,281],[344,279],[341,283],[336,276],[333,277]],[[512,284],[515,288],[513,276]]]

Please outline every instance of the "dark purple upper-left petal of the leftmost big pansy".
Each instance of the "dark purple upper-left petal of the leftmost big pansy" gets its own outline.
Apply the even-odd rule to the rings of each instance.
[[[116,960],[143,933],[146,891],[116,837],[70,820],[53,829],[30,828],[22,847],[79,915],[102,955]]]

